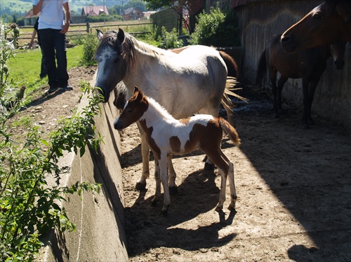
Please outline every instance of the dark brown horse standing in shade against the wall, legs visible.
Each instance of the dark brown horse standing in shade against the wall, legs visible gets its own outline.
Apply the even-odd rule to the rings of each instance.
[[[263,78],[268,75],[272,83],[274,97],[274,113],[279,115],[282,110],[282,89],[288,78],[303,78],[303,127],[308,128],[313,123],[311,106],[319,79],[326,69],[326,60],[333,55],[334,66],[342,69],[345,41],[337,41],[331,46],[309,48],[297,53],[286,53],[279,43],[280,35],[275,36],[269,46],[263,51],[258,62],[256,84],[261,85]],[[277,86],[277,72],[281,74]]]

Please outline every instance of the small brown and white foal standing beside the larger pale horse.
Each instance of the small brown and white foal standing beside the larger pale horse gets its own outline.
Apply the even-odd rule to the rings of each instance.
[[[236,145],[240,144],[237,130],[223,118],[211,115],[195,115],[177,120],[154,99],[147,97],[138,88],[126,102],[121,116],[114,121],[114,128],[123,130],[132,123],[140,121],[147,135],[147,143],[154,153],[156,192],[152,203],[161,195],[161,181],[164,187],[164,206],[162,213],[166,215],[171,198],[168,189],[168,161],[172,155],[190,153],[201,149],[218,167],[222,178],[220,197],[216,211],[223,209],[227,177],[230,182],[230,210],[235,209],[237,193],[234,184],[234,166],[220,149],[223,130]],[[161,181],[160,181],[161,174]]]

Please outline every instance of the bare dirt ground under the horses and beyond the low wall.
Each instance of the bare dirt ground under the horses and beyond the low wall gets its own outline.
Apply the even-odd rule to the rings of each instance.
[[[39,96],[22,116],[53,130],[79,103],[79,81],[94,71],[72,69],[73,91]],[[150,205],[153,175],[146,191],[134,189],[142,170],[136,125],[121,132],[130,261],[351,261],[350,133],[317,116],[303,130],[300,109],[284,104],[286,114],[273,118],[266,96],[249,96],[236,109],[241,146],[223,139],[235,169],[235,212],[227,209],[229,187],[225,209],[215,212],[220,175],[203,170],[197,151],[173,158],[178,194],[168,216],[159,216],[161,201]]]

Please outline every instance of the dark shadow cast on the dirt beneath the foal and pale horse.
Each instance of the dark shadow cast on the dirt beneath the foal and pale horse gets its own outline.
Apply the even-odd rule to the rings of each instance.
[[[232,224],[235,211],[228,215],[223,211],[218,212],[217,222],[198,226],[196,229],[178,226],[185,221],[197,218],[200,214],[211,210],[214,212],[219,195],[215,179],[216,175],[212,170],[198,170],[189,174],[178,186],[178,194],[171,195],[172,203],[167,217],[159,216],[163,205],[163,194],[157,206],[154,207],[150,205],[153,196],[145,199],[147,191],[140,191],[133,206],[126,208],[129,256],[135,256],[156,247],[193,251],[221,247],[232,241],[236,234],[232,233],[220,238],[218,231]],[[203,198],[199,198],[199,195],[203,195]],[[161,235],[165,237],[160,237]]]

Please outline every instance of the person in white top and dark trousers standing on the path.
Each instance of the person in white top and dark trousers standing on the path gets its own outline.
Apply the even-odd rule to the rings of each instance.
[[[72,90],[68,84],[66,33],[69,29],[71,11],[69,0],[32,0],[33,14],[39,15],[38,34],[45,57],[48,74],[48,93],[59,89]],[[63,18],[65,9],[66,19]],[[57,63],[57,64],[56,64]]]

